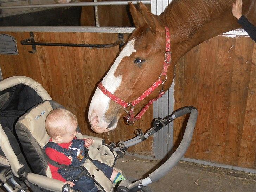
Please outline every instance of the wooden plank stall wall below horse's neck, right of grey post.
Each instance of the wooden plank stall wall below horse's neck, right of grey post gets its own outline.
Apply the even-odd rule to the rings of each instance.
[[[217,36],[176,65],[175,109],[193,105],[198,120],[187,158],[256,168],[256,43]],[[174,148],[184,119],[174,121]]]

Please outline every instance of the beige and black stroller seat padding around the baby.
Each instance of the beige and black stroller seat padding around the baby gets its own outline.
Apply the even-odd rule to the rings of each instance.
[[[50,137],[44,127],[45,119],[52,109],[64,108],[52,100],[46,100],[31,108],[26,114],[21,116],[16,123],[16,133],[21,143],[21,147],[31,167],[32,173],[40,174],[52,178],[50,167],[43,147]],[[77,127],[79,130],[79,127]],[[77,133],[78,139],[85,139],[89,136]],[[91,137],[91,136],[90,136]],[[117,154],[104,143],[103,139],[91,137],[94,143],[89,148],[89,156],[92,160],[104,162],[109,166],[114,166]],[[113,183],[103,174],[102,171],[87,159],[83,164],[99,190],[111,191]],[[34,183],[35,184],[35,183]],[[51,190],[51,188],[48,188]]]

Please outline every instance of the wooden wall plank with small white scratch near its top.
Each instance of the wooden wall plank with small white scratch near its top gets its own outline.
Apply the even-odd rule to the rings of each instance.
[[[216,58],[213,87],[212,114],[209,118],[210,132],[210,157],[213,162],[223,162],[227,119],[229,116],[230,89],[235,58],[235,38],[219,36],[213,39],[218,42],[218,50],[214,53]]]

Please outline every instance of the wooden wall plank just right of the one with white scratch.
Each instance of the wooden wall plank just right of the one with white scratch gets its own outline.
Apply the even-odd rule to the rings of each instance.
[[[249,48],[250,47],[250,48]],[[231,79],[228,125],[225,136],[224,164],[237,165],[239,146],[244,128],[245,108],[250,81],[253,42],[237,38]],[[255,77],[252,77],[255,78]]]

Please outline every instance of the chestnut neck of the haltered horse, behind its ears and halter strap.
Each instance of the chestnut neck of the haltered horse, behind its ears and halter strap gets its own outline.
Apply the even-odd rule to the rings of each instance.
[[[234,0],[172,1],[159,17],[165,25],[171,26],[171,43],[174,45],[172,47],[173,65],[203,41],[241,28],[232,15],[232,2]],[[243,10],[249,10],[251,2],[244,1]],[[253,21],[255,17],[251,19]]]

